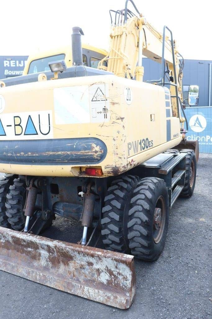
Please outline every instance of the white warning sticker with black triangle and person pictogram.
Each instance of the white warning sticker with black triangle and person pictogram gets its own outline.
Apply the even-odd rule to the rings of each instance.
[[[110,121],[110,103],[108,84],[94,84],[89,87],[91,106],[91,122],[102,123]]]

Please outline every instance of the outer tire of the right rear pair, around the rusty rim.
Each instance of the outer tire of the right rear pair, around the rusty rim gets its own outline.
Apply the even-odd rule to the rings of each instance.
[[[164,198],[165,219],[162,237],[158,243],[153,238],[153,217],[159,197]],[[133,190],[128,222],[128,239],[131,254],[139,259],[155,261],[166,241],[169,222],[169,197],[164,180],[146,177]]]

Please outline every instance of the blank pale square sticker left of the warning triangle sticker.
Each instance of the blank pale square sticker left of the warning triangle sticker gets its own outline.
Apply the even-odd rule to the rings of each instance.
[[[54,116],[56,124],[89,123],[88,85],[55,88]]]

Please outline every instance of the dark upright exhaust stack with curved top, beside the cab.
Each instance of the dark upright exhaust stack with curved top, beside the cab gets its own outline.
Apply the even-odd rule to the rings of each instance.
[[[82,61],[82,44],[81,35],[84,35],[82,29],[78,26],[72,28],[71,42],[72,42],[72,65],[83,65]]]

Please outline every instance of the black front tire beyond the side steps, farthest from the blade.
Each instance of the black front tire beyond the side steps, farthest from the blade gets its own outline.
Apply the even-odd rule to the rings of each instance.
[[[180,153],[187,153],[186,155],[186,177],[185,177],[185,184],[182,192],[180,193],[180,197],[189,198],[192,196],[194,192],[195,182],[196,182],[196,157],[193,150],[181,150]],[[192,187],[190,186],[190,169],[193,162],[194,167],[194,182]]]

